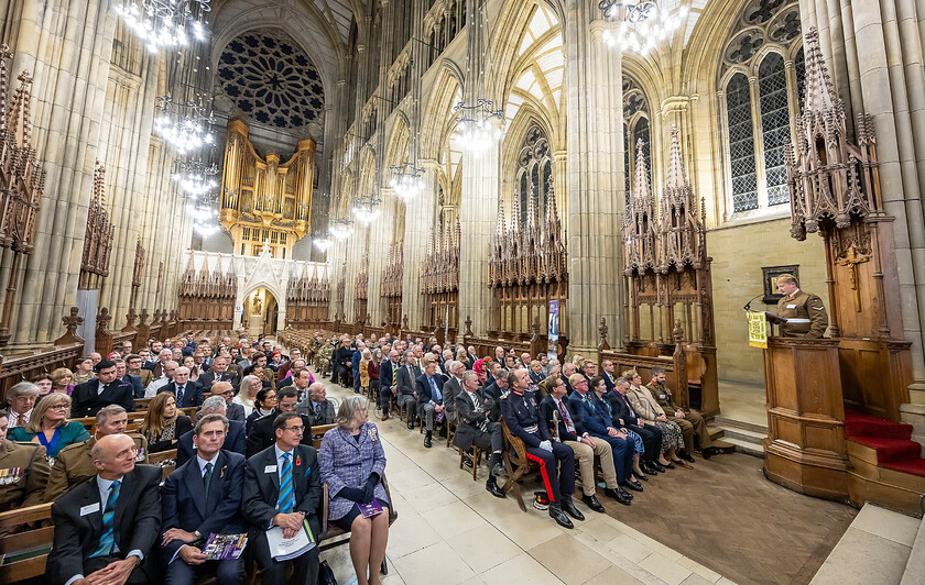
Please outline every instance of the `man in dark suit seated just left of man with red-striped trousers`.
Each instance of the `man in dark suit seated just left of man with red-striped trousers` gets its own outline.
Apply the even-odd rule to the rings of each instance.
[[[456,396],[456,413],[459,416],[459,426],[456,427],[456,434],[453,435],[453,444],[463,451],[469,451],[472,445],[482,451],[491,451],[489,459],[489,475],[485,484],[488,493],[497,498],[507,497],[504,492],[498,487],[497,477],[501,473],[501,448],[502,433],[501,423],[488,420],[488,410],[493,400],[485,395],[479,388],[479,376],[466,365],[456,362],[464,369],[463,391]]]

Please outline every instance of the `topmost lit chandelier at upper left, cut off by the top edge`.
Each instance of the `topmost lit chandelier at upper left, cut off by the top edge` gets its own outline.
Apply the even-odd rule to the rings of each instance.
[[[183,47],[189,38],[206,40],[205,15],[211,0],[131,0],[116,4],[116,12],[151,53]]]

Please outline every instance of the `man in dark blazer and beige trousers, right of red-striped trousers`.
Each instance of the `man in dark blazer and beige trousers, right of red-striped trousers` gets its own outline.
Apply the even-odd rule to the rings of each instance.
[[[595,486],[595,455],[600,461],[600,470],[603,473],[603,493],[613,499],[619,499],[617,488],[620,483],[617,481],[617,471],[613,467],[613,452],[610,443],[602,439],[595,439],[588,432],[578,434],[575,426],[575,415],[568,406],[568,397],[565,393],[565,383],[558,376],[549,376],[541,384],[547,388],[547,396],[540,402],[540,411],[546,421],[549,430],[556,431],[556,438],[563,444],[570,446],[575,452],[575,461],[578,462],[578,471],[581,475],[581,501],[596,512],[605,512],[603,505],[597,499]]]

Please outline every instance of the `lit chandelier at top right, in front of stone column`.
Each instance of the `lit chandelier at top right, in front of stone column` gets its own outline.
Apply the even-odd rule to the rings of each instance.
[[[614,31],[603,31],[603,41],[639,54],[668,41],[687,15],[687,5],[671,11],[655,0],[600,0],[598,8],[606,19],[618,22]]]

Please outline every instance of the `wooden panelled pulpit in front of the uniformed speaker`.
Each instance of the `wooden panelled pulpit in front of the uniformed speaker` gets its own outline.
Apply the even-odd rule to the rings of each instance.
[[[768,339],[764,474],[803,494],[847,500],[838,344],[834,339]]]

